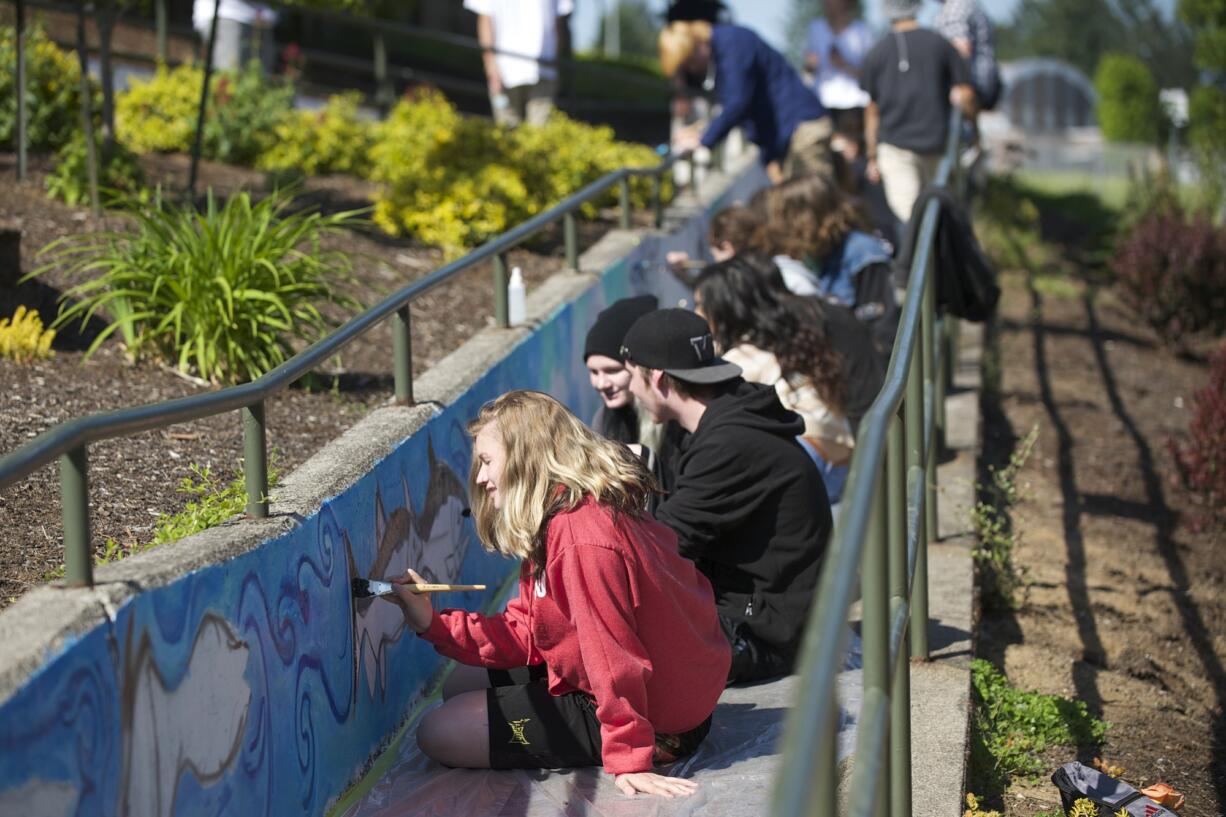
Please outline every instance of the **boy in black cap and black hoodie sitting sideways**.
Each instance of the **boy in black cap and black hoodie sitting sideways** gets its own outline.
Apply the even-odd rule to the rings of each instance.
[[[706,321],[685,309],[640,318],[622,357],[639,408],[690,432],[656,518],[715,588],[729,683],[790,672],[831,526],[821,476],[796,442],[804,422],[717,357]]]

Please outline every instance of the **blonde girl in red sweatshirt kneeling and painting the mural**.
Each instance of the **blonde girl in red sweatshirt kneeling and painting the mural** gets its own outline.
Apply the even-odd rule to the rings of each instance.
[[[434,611],[408,586],[408,627],[462,665],[417,730],[422,751],[466,768],[603,765],[617,788],[664,797],[691,780],[652,772],[706,736],[728,672],[711,585],[642,510],[641,460],[553,397],[510,391],[473,435],[477,535],[522,561],[497,616]]]

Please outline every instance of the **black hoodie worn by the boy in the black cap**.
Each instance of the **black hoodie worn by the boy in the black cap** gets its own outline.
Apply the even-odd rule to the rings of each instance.
[[[821,475],[796,442],[804,421],[769,385],[733,382],[682,443],[656,518],[711,579],[720,613],[794,653],[830,536]]]

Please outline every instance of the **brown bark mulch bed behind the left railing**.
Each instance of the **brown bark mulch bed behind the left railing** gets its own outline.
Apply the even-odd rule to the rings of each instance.
[[[13,156],[0,153],[0,227],[22,231],[22,271],[34,270],[39,248],[55,238],[102,226],[119,227],[121,218],[92,218],[87,211],[50,201],[43,193],[49,158],[32,158],[32,179],[13,182]],[[151,184],[185,186],[185,156],[143,157]],[[212,186],[219,195],[238,189],[264,190],[262,173],[205,162],[200,190]],[[358,179],[311,179],[303,200],[325,211],[364,206],[373,188]],[[612,215],[612,213],[609,213]],[[590,247],[608,229],[609,221],[580,226],[580,248]],[[364,304],[407,285],[443,264],[441,255],[409,240],[376,232],[347,233],[330,242],[354,264],[356,281],[342,285]],[[531,249],[510,253],[510,264],[524,269],[528,290],[562,270],[564,253],[557,234],[546,234]],[[2,276],[0,276],[2,277]],[[455,350],[476,331],[493,324],[492,270],[488,264],[460,274],[452,282],[413,302],[413,367],[417,374]],[[49,271],[20,287],[0,285],[0,315],[17,304],[38,308],[49,323],[60,294],[75,281]],[[55,356],[32,366],[0,361],[0,454],[29,442],[56,423],[91,412],[158,402],[207,388],[195,385],[157,363],[130,364],[108,340],[85,362],[82,352],[98,331],[63,331]],[[315,390],[292,388],[266,408],[273,467],[288,474],[370,407],[392,397],[391,331],[384,325],[351,343],[338,363],[325,370]],[[147,540],[158,514],[174,513],[188,497],[173,487],[191,465],[210,466],[230,476],[239,466],[242,432],[237,413],[148,432],[132,439],[103,442],[89,448],[89,487],[93,501],[91,532],[101,548],[108,537],[121,543]],[[0,607],[45,580],[63,564],[59,476],[47,466],[22,482],[0,491]]]

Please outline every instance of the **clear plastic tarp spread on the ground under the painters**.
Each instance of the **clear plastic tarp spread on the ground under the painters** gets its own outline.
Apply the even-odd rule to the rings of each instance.
[[[857,640],[857,639],[853,639]],[[848,656],[858,666],[858,650]],[[600,769],[492,772],[447,769],[417,750],[412,725],[391,768],[345,817],[744,817],[765,815],[779,768],[783,721],[799,678],[726,689],[711,732],[691,757],[663,774],[690,778],[698,792],[664,800],[626,797]],[[839,758],[855,745],[862,672],[839,676]]]

